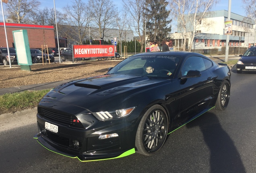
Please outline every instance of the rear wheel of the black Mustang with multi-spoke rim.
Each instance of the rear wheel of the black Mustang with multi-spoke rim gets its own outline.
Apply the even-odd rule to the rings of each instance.
[[[221,85],[221,89],[219,91],[219,95],[215,104],[215,109],[218,109],[221,111],[225,110],[229,103],[229,97],[230,97],[230,84],[227,80],[224,80]]]

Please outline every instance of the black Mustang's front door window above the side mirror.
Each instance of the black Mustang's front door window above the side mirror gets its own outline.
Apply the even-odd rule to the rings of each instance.
[[[202,57],[199,56],[190,56],[186,59],[182,66],[182,76],[187,75],[189,70],[198,70],[203,71],[205,70],[205,64]]]

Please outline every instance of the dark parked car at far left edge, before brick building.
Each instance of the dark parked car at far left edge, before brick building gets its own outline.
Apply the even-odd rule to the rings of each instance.
[[[17,54],[15,48],[9,48],[10,62],[11,64],[18,64]],[[6,47],[0,47],[0,63],[6,65],[10,64],[8,57],[8,49]]]

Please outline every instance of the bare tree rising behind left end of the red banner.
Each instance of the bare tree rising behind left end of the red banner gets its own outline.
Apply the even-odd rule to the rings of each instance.
[[[72,40],[77,44],[83,44],[85,37],[89,34],[89,22],[91,16],[88,13],[88,4],[83,0],[72,0],[70,5],[63,8],[66,14],[66,26],[61,27],[62,36]]]

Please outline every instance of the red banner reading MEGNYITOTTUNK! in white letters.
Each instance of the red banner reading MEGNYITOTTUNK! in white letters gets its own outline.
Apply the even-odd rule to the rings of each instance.
[[[115,56],[112,45],[74,45],[74,58]]]

